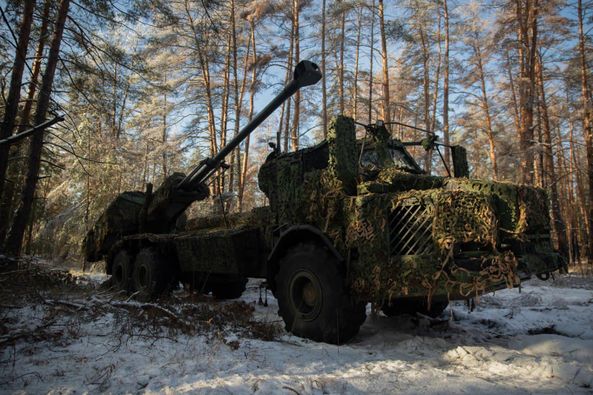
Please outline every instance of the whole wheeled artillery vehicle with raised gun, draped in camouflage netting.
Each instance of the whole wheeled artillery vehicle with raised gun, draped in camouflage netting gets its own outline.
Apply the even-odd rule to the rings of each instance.
[[[217,298],[239,297],[247,277],[266,279],[286,329],[342,343],[374,303],[388,316],[437,316],[450,300],[517,286],[557,270],[545,191],[468,178],[466,153],[451,149],[453,176],[425,174],[409,145],[382,122],[356,139],[354,120],[334,118],[323,142],[277,149],[258,179],[269,205],[250,212],[176,221],[205,199],[224,157],[283,100],[316,83],[302,62],[294,80],[220,153],[153,194],[126,192],[86,237],[87,259],[106,260],[115,286],[145,298],[191,284]],[[440,151],[439,151],[440,153]]]

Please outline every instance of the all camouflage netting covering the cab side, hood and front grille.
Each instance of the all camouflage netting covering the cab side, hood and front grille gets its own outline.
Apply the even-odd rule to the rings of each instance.
[[[348,260],[350,286],[364,300],[465,298],[517,283],[518,260],[499,245],[501,238],[547,231],[541,190],[391,167],[361,182],[354,195],[360,153],[353,136],[351,120],[337,118],[327,143],[262,166],[260,187],[277,223],[325,232]],[[372,137],[375,150],[386,144],[386,136]],[[474,254],[467,265],[460,251]]]

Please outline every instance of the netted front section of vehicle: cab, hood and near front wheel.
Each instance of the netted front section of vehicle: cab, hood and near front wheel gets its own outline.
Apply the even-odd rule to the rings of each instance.
[[[338,117],[327,141],[273,153],[261,167],[260,189],[281,229],[268,278],[289,330],[335,341],[332,328],[356,333],[366,302],[387,315],[434,316],[451,299],[558,269],[544,190],[467,178],[457,146],[447,147],[456,176],[424,174],[410,143],[390,138],[382,124],[368,129],[356,141],[353,120]],[[317,256],[326,263],[305,263]],[[315,267],[327,261],[339,275]],[[341,307],[326,309],[328,298]],[[336,309],[352,318],[332,318]],[[319,317],[329,325],[317,324]]]

